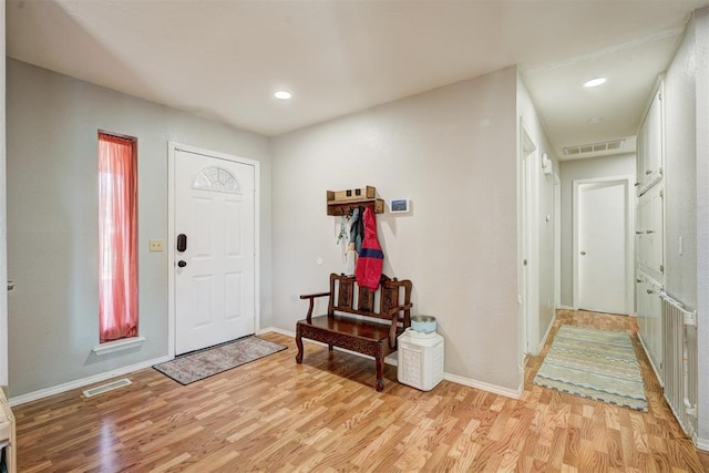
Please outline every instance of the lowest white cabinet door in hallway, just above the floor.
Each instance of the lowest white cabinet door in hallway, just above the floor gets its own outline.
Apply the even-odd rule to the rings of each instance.
[[[638,271],[635,281],[638,336],[655,371],[662,379],[662,285],[643,271]]]

